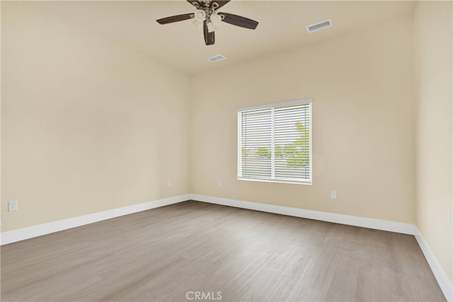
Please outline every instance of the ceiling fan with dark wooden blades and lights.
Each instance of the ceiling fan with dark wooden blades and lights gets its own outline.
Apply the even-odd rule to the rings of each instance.
[[[254,30],[258,22],[249,18],[233,15],[232,13],[217,12],[231,0],[186,0],[195,6],[195,13],[183,13],[182,15],[171,16],[156,20],[159,24],[168,24],[188,19],[194,19],[195,25],[203,26],[206,45],[214,44],[215,25],[224,21],[226,23]]]

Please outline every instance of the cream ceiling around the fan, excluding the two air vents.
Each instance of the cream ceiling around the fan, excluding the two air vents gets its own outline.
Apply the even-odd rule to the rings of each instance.
[[[50,1],[34,6],[52,18],[62,18],[105,37],[127,43],[188,74],[235,64],[253,57],[362,30],[413,13],[413,1],[241,1],[220,11],[259,22],[256,30],[221,23],[215,45],[207,46],[202,30],[192,21],[159,25],[156,19],[191,13],[193,6],[178,1]],[[333,27],[307,33],[305,26],[331,18]],[[207,57],[226,60],[210,63]]]

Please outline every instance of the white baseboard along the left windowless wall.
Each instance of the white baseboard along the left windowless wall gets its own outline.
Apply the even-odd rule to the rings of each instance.
[[[77,226],[84,226],[89,223],[103,221],[118,216],[137,213],[139,211],[146,211],[158,207],[164,207],[168,204],[176,204],[178,202],[185,202],[190,199],[189,194],[169,197],[164,199],[157,199],[152,202],[144,202],[142,204],[134,204],[132,206],[111,209],[108,211],[100,211],[93,214],[77,216],[69,219],[53,221],[50,223],[38,224],[37,226],[29,226],[27,228],[18,228],[13,231],[6,231],[0,233],[0,245],[13,243],[29,238],[34,238],[49,233],[67,230],[68,228],[75,228]]]

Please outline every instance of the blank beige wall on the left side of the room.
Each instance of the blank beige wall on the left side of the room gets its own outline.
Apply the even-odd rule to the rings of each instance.
[[[1,6],[1,231],[189,192],[188,76]]]

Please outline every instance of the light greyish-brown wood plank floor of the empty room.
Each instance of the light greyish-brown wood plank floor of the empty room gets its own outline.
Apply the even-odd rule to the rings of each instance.
[[[195,291],[445,301],[413,236],[202,202],[1,247],[1,301],[187,301]]]

